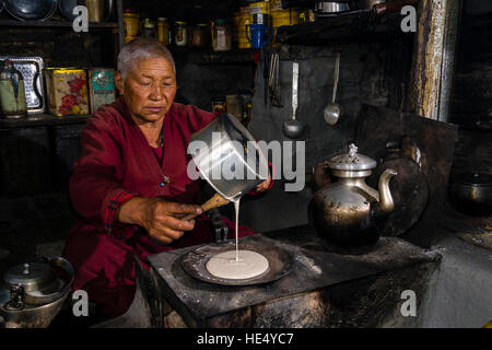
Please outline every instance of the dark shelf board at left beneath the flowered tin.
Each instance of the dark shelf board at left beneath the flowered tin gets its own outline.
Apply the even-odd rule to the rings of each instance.
[[[25,128],[37,126],[60,126],[72,124],[85,124],[92,115],[70,115],[56,117],[50,114],[34,114],[19,119],[5,119],[0,117],[0,129]]]

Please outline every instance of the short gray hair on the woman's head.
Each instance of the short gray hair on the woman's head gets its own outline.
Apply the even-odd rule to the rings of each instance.
[[[118,71],[125,79],[140,60],[149,58],[167,59],[176,73],[174,58],[167,47],[159,40],[147,38],[134,39],[121,48],[118,55]]]

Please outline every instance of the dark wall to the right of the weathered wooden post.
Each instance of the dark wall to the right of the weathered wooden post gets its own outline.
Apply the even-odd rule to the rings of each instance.
[[[492,173],[492,2],[467,0],[453,88],[450,121],[460,126],[453,174]]]

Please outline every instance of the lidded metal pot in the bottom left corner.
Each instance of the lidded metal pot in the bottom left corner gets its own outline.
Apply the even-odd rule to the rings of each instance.
[[[7,328],[47,327],[72,282],[73,268],[61,257],[16,265],[5,272],[0,285],[0,318]]]

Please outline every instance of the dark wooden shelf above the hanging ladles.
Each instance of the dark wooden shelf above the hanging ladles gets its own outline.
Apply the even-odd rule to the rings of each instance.
[[[411,37],[412,33],[401,31],[401,20],[400,13],[380,16],[372,11],[333,14],[316,22],[281,26],[277,32],[277,42],[293,45],[327,45]]]

